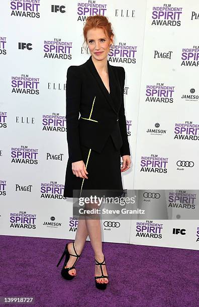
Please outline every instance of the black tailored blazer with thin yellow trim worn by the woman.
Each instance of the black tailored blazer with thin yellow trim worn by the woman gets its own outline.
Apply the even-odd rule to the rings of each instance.
[[[79,66],[68,67],[66,130],[71,163],[83,160],[80,144],[100,153],[110,134],[121,157],[130,155],[124,109],[125,70],[107,62],[110,94],[91,56]]]

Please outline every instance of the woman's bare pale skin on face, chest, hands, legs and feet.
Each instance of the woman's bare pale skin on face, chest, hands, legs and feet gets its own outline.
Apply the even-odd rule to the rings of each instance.
[[[108,65],[107,65],[107,56],[110,51],[110,45],[113,43],[113,36],[109,38],[104,29],[102,28],[93,28],[87,32],[87,46],[89,52],[92,56],[92,61],[96,67],[96,70],[99,76],[102,78],[107,90],[110,93],[109,87],[109,74],[108,74]],[[97,55],[96,52],[102,52]],[[125,172],[130,168],[131,159],[129,155],[123,156],[123,165],[121,172]],[[88,172],[86,171],[85,164],[83,161],[77,161],[72,163],[72,172],[76,177],[88,179]],[[98,262],[104,260],[104,254],[102,250],[102,230],[101,223],[99,219],[79,219],[77,231],[75,235],[75,250],[78,255],[80,255],[83,246],[85,244],[86,238],[89,236],[92,249],[94,251],[94,257]],[[71,254],[75,254],[72,246],[72,242],[68,244],[68,251]],[[70,256],[65,268],[71,267],[76,260],[76,257]],[[105,263],[105,262],[104,262]],[[104,275],[108,275],[106,265],[102,265]],[[69,270],[70,275],[76,275],[76,269]],[[95,265],[94,276],[101,276],[102,272],[100,265]],[[108,278],[97,278],[99,283],[108,283]]]

